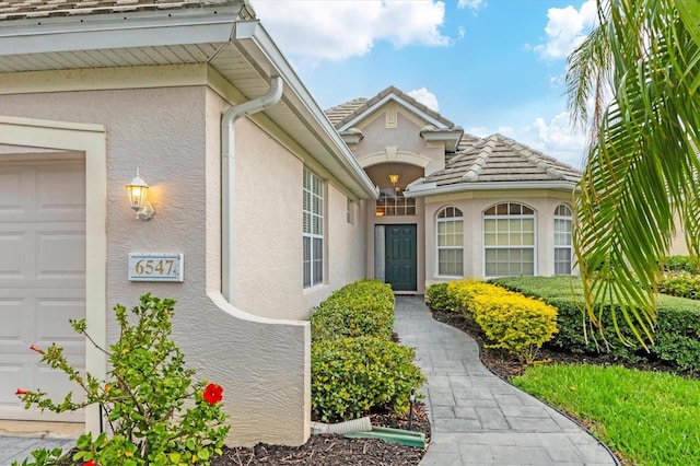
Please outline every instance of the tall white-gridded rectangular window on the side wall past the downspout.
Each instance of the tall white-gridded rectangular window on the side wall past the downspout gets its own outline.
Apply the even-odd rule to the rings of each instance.
[[[304,167],[303,182],[303,276],[304,288],[324,281],[324,185],[322,179]]]

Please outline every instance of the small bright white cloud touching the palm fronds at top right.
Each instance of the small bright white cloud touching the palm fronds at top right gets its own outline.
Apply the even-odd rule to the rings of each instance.
[[[540,57],[565,58],[591,32],[597,21],[595,0],[586,0],[576,10],[574,7],[550,8],[547,11],[547,42],[532,47]]]

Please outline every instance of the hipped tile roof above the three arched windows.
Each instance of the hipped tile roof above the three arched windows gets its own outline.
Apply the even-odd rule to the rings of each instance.
[[[576,168],[502,135],[475,138],[465,135],[445,168],[425,177],[436,187],[490,182],[571,182],[581,179]]]

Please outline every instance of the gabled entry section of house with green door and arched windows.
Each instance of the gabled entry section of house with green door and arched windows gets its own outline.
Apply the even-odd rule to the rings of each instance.
[[[578,170],[465,133],[393,86],[326,113],[381,189],[365,203],[369,277],[420,294],[460,278],[572,273]]]

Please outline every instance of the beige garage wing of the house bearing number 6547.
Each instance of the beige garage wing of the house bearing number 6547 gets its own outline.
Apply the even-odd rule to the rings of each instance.
[[[149,221],[127,199],[137,170]],[[223,386],[229,444],[304,443],[307,317],[365,276],[377,195],[243,0],[0,3],[0,422],[97,431],[96,408],[18,403],[72,388],[28,347],[104,377],[68,319],[106,347],[110,308],[151,292],[177,301],[173,337]]]

